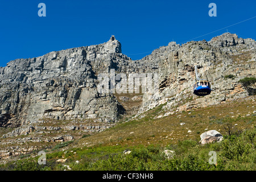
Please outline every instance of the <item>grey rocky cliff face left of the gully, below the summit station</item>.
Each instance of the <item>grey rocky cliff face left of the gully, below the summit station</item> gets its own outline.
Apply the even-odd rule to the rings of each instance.
[[[0,68],[0,126],[40,118],[116,120],[122,107],[97,92],[97,73],[123,71],[129,61],[117,40],[10,61]]]

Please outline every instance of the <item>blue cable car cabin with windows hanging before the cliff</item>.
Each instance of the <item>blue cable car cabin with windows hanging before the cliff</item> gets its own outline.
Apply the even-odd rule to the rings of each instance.
[[[196,81],[194,84],[194,94],[197,96],[207,96],[212,92],[212,89],[210,88],[210,82],[206,80],[199,80]]]

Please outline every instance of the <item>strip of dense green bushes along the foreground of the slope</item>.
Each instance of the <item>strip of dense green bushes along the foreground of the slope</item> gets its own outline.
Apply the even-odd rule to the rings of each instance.
[[[166,148],[160,146],[133,146],[130,154],[123,154],[123,146],[94,146],[72,148],[47,154],[47,164],[39,165],[38,158],[19,160],[2,165],[2,170],[64,170],[56,159],[68,159],[72,170],[255,170],[256,128],[239,135],[225,136],[220,143],[201,146],[195,140],[180,141]],[[175,151],[173,159],[163,155],[164,149]],[[217,153],[217,164],[209,164],[209,151]],[[77,162],[78,161],[78,162]]]

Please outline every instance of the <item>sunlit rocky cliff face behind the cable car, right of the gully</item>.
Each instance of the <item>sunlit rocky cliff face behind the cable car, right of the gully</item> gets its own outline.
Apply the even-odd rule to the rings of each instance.
[[[181,46],[171,42],[156,49],[143,61],[157,62],[159,93],[144,94],[139,113],[164,103],[163,108],[170,114],[248,96],[238,81],[244,77],[255,77],[255,48],[255,40],[225,33],[209,42],[192,41]],[[212,84],[213,91],[208,96],[199,97],[192,93],[196,77],[194,65],[199,68],[200,77]]]

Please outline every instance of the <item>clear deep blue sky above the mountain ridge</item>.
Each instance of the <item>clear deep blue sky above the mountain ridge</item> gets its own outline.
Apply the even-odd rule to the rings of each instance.
[[[41,2],[46,4],[46,17],[38,16]],[[216,17],[208,15],[212,2],[217,5]],[[172,40],[208,41],[226,29],[241,38],[255,40],[255,6],[254,0],[1,1],[0,66],[18,58],[104,43],[111,35],[133,60]]]

